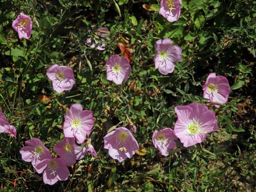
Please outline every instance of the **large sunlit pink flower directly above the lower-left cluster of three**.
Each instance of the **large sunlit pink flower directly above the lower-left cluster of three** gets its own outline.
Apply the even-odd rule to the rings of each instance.
[[[75,137],[82,143],[89,136],[94,125],[93,113],[89,110],[83,110],[82,105],[73,104],[68,110],[63,131],[65,137]]]

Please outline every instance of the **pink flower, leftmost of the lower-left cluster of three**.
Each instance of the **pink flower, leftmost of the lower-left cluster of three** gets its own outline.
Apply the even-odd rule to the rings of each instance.
[[[32,138],[25,141],[28,146],[20,149],[22,159],[26,162],[32,162],[32,166],[36,168],[36,165],[42,160],[52,158],[50,151],[44,146],[42,141],[37,138]]]

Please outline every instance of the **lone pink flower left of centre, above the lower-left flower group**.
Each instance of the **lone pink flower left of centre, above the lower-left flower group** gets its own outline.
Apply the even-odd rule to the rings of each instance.
[[[52,87],[58,93],[72,89],[75,83],[73,70],[67,66],[54,64],[48,68],[46,75],[52,80]]]

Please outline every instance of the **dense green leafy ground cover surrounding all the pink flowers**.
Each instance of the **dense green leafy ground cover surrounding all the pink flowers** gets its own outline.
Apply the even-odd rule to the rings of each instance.
[[[17,130],[16,138],[0,134],[1,190],[256,191],[256,2],[183,0],[176,22],[158,13],[157,0],[116,4],[120,12],[112,0],[0,0],[0,108]],[[32,18],[28,40],[12,29],[20,12]],[[93,25],[110,31],[104,50],[85,44]],[[153,61],[154,44],[164,38],[179,45],[183,56],[167,75]],[[107,80],[106,61],[121,52],[129,56],[132,72],[117,85]],[[55,63],[72,68],[76,79],[60,94],[46,76]],[[231,86],[220,108],[202,98],[210,72]],[[173,129],[174,107],[192,102],[215,112],[218,132],[162,156],[152,144],[153,132]],[[93,111],[90,138],[98,155],[86,154],[69,167],[68,180],[44,184],[19,150],[35,137],[57,156],[53,148],[64,137],[64,117],[74,103]],[[140,148],[121,163],[103,147],[103,137],[119,122],[136,125]]]

